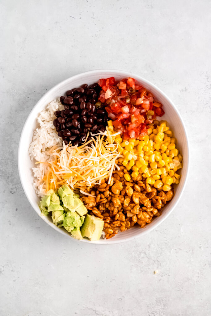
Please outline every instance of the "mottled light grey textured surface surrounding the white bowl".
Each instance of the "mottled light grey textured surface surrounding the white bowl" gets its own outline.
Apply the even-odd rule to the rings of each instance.
[[[1,316],[210,316],[210,20],[208,0],[1,2]],[[111,246],[55,232],[17,170],[35,103],[100,68],[161,88],[185,121],[191,156],[176,210],[150,234]]]

